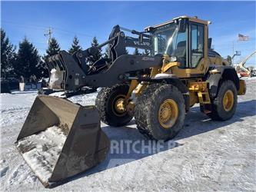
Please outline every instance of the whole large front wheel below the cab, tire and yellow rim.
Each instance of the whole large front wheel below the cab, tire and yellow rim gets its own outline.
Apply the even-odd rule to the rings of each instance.
[[[151,139],[168,141],[184,125],[184,98],[171,84],[151,85],[147,89],[135,107],[138,130]]]

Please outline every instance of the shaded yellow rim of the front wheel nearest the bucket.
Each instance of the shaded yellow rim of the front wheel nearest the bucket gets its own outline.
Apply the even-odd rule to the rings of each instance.
[[[121,117],[125,116],[126,114],[126,109],[125,109],[125,95],[124,94],[118,94],[112,104],[112,111],[114,112],[115,115]]]

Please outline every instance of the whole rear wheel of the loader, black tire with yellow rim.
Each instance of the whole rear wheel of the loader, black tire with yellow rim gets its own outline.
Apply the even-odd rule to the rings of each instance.
[[[217,97],[211,101],[211,113],[208,116],[217,121],[228,120],[233,117],[237,105],[238,91],[234,82],[230,80],[224,81],[221,84]]]

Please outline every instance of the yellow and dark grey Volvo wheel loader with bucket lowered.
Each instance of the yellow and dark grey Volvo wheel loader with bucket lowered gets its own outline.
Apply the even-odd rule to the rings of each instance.
[[[50,95],[35,98],[15,144],[42,184],[52,187],[105,159],[110,141],[101,121],[121,127],[135,118],[145,137],[168,141],[184,127],[185,114],[194,104],[213,120],[232,118],[245,82],[211,48],[208,25],[188,16],[145,31],[116,25],[108,41],[97,47],[48,58],[50,89],[67,95],[101,90],[95,106]],[[91,63],[104,46],[108,57]],[[129,55],[126,48],[147,49],[151,55]]]

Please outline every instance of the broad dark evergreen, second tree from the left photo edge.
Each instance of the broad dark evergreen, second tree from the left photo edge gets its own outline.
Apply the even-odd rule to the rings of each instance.
[[[37,78],[41,77],[41,71],[38,70],[38,65],[40,64],[41,58],[38,55],[38,50],[24,38],[22,42],[19,43],[17,61],[14,65],[15,74],[22,75],[25,78],[30,78],[32,74],[35,74]]]

